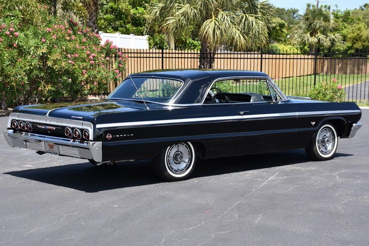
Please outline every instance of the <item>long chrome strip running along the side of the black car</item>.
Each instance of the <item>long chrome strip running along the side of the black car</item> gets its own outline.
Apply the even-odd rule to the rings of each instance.
[[[146,121],[132,121],[132,122],[117,122],[107,124],[97,124],[96,128],[110,128],[110,127],[131,127],[131,126],[146,126],[146,125],[160,125],[173,124],[185,122],[198,121],[215,121],[215,120],[230,120],[230,119],[252,119],[252,118],[266,118],[266,117],[288,117],[299,115],[327,115],[337,113],[358,113],[361,110],[331,110],[331,111],[310,111],[310,112],[287,112],[287,113],[265,113],[265,114],[251,114],[251,115],[234,115],[234,116],[219,116],[219,117],[201,117],[201,118],[183,118],[183,119],[163,119],[163,120],[146,120]]]

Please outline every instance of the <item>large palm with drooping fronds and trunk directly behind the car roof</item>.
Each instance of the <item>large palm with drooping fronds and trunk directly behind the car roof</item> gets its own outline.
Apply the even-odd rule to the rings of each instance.
[[[158,0],[148,16],[170,39],[198,30],[199,68],[212,68],[216,49],[253,50],[268,43],[272,7],[259,0]]]

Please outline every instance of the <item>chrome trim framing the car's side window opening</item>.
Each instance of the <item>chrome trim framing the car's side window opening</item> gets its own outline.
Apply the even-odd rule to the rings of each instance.
[[[280,91],[278,89],[278,87],[275,86],[275,83],[274,81],[269,77],[269,76],[228,76],[228,77],[221,77],[221,78],[217,78],[217,79],[214,79],[213,82],[210,84],[209,88],[207,89],[206,93],[205,93],[205,96],[204,98],[202,99],[202,102],[201,104],[203,105],[219,105],[219,103],[204,103],[205,102],[205,99],[206,99],[206,95],[209,93],[211,87],[213,86],[213,84],[217,81],[220,81],[220,80],[227,80],[227,79],[265,79],[268,83],[268,85],[272,86],[273,89],[277,92],[277,94],[283,98],[284,100],[282,101],[288,101],[289,99],[282,93],[282,91]],[[268,86],[268,89],[269,89],[269,93],[270,92],[270,88]],[[271,93],[272,94],[272,93]],[[274,98],[273,98],[273,102],[274,101]],[[257,103],[257,102],[232,102],[232,103],[220,103],[220,104],[227,104],[227,105],[231,105],[231,104],[241,104],[241,103]]]

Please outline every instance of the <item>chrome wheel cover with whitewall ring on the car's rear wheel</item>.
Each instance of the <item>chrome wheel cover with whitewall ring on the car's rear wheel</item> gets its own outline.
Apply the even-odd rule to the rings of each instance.
[[[193,162],[193,151],[190,143],[179,143],[169,147],[166,151],[166,167],[173,176],[186,175]],[[192,148],[193,149],[193,148]]]

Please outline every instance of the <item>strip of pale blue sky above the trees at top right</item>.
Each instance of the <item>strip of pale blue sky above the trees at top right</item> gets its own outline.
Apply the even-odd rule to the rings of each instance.
[[[311,0],[269,0],[269,3],[273,4],[279,8],[295,8],[300,10],[300,14],[304,14],[306,4],[316,4],[316,1]],[[338,6],[338,9],[345,10],[345,9],[356,9],[360,5],[365,3],[369,3],[369,0],[322,0],[319,1],[319,5],[330,5],[332,9],[335,9],[335,5]]]

